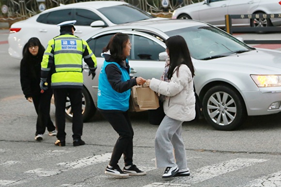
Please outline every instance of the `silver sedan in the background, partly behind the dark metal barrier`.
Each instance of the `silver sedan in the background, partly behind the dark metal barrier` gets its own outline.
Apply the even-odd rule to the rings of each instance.
[[[202,0],[201,0],[202,1]],[[280,14],[280,0],[203,0],[176,9],[172,19],[195,19],[224,28],[229,15]],[[233,19],[233,26],[269,27],[280,26],[280,18]]]

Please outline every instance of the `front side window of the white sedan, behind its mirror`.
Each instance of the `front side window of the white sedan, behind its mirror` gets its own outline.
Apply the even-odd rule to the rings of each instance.
[[[75,20],[77,21],[75,25],[90,26],[92,22],[102,18],[90,10],[75,9]]]

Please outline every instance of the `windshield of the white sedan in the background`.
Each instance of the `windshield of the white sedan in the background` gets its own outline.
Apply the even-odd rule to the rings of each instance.
[[[118,5],[98,9],[112,23],[121,24],[153,18],[150,14],[131,5]]]

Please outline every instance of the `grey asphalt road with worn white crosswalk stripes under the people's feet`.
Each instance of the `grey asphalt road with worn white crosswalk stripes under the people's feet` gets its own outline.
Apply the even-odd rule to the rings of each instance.
[[[252,35],[273,38],[280,34]],[[22,94],[19,60],[7,53],[7,31],[0,31],[0,186],[12,187],[281,187],[281,113],[248,117],[235,131],[217,131],[204,120],[183,124],[189,177],[162,179],[155,168],[157,126],[147,112],[131,114],[135,131],[134,164],[145,176],[127,179],[104,174],[118,138],[100,115],[84,123],[86,145],[72,146],[71,123],[66,124],[66,146],[55,137],[34,140],[36,113]],[[281,48],[278,46],[277,49]],[[51,118],[54,121],[54,106]],[[124,162],[119,163],[123,168]]]

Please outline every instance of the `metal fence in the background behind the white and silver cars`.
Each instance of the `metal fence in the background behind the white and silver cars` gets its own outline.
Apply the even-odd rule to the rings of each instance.
[[[26,19],[40,13],[39,5],[44,3],[46,9],[60,6],[60,4],[70,4],[92,0],[0,0],[0,19]],[[191,3],[203,0],[167,0],[168,7],[162,6],[162,0],[123,0],[133,4],[146,12],[152,14],[172,14],[172,11]]]

